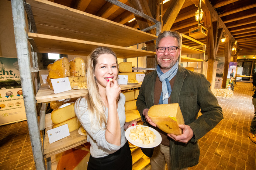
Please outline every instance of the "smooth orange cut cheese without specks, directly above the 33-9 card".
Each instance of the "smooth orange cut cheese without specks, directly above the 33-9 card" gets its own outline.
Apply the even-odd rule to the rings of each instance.
[[[49,78],[63,78],[70,76],[69,60],[62,57],[54,61],[52,65],[48,65]]]

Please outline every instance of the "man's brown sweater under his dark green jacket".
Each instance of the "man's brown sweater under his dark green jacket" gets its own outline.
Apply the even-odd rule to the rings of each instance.
[[[173,88],[173,84],[174,84],[174,80],[175,80],[176,76],[174,76],[172,78],[172,80],[170,80],[170,84],[171,87]],[[159,99],[160,99],[160,95],[162,93],[162,82],[160,82],[159,77],[156,77],[156,82],[155,82],[155,89],[154,89],[154,104],[158,105],[159,103]],[[168,103],[170,103],[170,97],[168,99]],[[157,127],[155,128],[161,135],[162,137],[162,145],[165,145],[167,147],[170,146],[170,137],[167,136],[167,133],[163,132],[162,130],[158,129]]]

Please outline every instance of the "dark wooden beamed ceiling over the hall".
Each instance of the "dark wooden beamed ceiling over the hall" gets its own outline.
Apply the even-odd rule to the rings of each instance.
[[[137,21],[132,21],[128,23],[131,19],[134,18],[134,14],[129,12],[123,8],[120,8],[116,5],[113,5],[110,2],[105,0],[49,0],[58,4],[62,4],[64,6],[68,6],[71,8],[75,8],[93,15],[97,15],[99,17],[103,17],[105,19],[109,19],[114,22],[118,22],[132,28],[139,29],[139,25]],[[129,0],[119,0],[121,3],[124,3],[129,6]],[[147,1],[147,0],[135,0],[135,1]],[[148,0],[152,1],[160,1],[160,0]],[[175,3],[179,3],[179,1],[184,0],[170,0],[169,2],[162,5],[162,16],[165,14],[166,10],[175,1]],[[171,30],[177,30],[180,33],[188,35],[190,28],[195,28],[198,26],[198,22],[195,20],[195,12],[198,9],[195,5],[199,0],[185,0],[178,15],[171,26]],[[235,43],[232,46],[236,46],[236,54],[238,56],[249,56],[256,55],[256,0],[202,0],[202,3],[207,1],[208,6],[202,5],[201,8],[206,11],[205,15],[209,14],[207,11],[211,11],[212,22],[219,21],[218,28],[223,28],[223,35],[229,37],[230,41]],[[195,4],[194,4],[195,3]],[[152,4],[152,3],[149,3]],[[150,8],[150,7],[149,7]],[[207,9],[208,8],[208,9]],[[212,10],[212,9],[213,10]],[[169,9],[168,9],[169,10]],[[158,16],[156,14],[152,14],[152,16]],[[219,16],[219,17],[216,17]],[[161,19],[154,17],[156,19]],[[171,17],[171,18],[175,18]],[[221,22],[220,22],[221,21]],[[204,23],[204,18],[200,22],[202,26],[208,28],[208,25]],[[218,35],[218,34],[216,34]],[[209,35],[208,35],[209,36]],[[216,38],[215,38],[216,39]],[[206,43],[206,38],[203,37],[201,39],[197,39],[204,44]],[[183,41],[185,45],[193,46],[192,43]],[[215,47],[217,50],[217,57],[224,57],[225,43],[219,43],[219,46]],[[231,46],[231,48],[232,48]],[[206,48],[207,49],[207,48]],[[207,52],[206,52],[207,54]]]

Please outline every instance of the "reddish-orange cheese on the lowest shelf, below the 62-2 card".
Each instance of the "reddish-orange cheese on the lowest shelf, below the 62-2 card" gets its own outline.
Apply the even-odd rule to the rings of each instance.
[[[85,147],[76,147],[64,151],[59,159],[56,170],[87,169],[90,150]]]

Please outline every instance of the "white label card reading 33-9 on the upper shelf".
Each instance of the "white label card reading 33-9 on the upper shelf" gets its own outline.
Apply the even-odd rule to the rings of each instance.
[[[69,91],[72,89],[68,77],[51,79],[51,82],[54,94],[61,93],[63,91]]]

